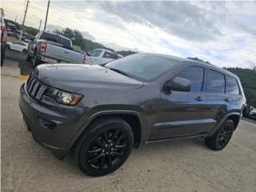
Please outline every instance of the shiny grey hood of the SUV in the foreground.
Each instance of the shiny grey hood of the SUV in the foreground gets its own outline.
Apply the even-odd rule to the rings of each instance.
[[[97,65],[40,65],[36,68],[35,75],[46,85],[70,92],[83,88],[134,90],[143,86],[142,82],[134,78]]]

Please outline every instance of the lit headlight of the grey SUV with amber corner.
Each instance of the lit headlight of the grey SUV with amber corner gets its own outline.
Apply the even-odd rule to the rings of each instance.
[[[70,94],[62,90],[57,90],[55,88],[50,88],[47,90],[46,95],[51,98],[54,98],[56,102],[74,106],[76,105],[81,99],[81,94]]]

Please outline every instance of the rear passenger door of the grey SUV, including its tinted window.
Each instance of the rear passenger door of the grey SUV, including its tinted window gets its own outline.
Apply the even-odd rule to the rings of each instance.
[[[232,98],[225,94],[225,74],[214,69],[207,69],[206,72],[206,115],[219,122],[229,110]]]

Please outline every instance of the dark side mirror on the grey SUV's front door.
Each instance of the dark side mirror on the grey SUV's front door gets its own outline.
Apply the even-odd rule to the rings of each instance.
[[[175,77],[170,81],[166,82],[163,86],[163,89],[170,92],[171,90],[190,92],[191,90],[191,82],[186,78],[178,78]]]

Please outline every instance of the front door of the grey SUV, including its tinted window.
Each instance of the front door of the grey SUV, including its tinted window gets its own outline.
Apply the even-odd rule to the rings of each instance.
[[[191,81],[191,91],[171,90],[161,93],[161,104],[154,119],[150,140],[190,137],[205,134],[213,119],[206,117],[206,94],[203,93],[205,68],[188,66],[174,77]],[[166,82],[168,79],[166,79]]]

